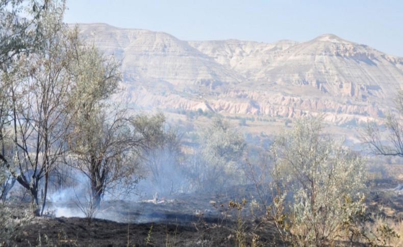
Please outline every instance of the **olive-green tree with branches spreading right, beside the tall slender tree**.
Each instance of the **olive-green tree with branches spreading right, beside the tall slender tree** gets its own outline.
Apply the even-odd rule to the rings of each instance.
[[[113,107],[108,99],[118,91],[118,64],[94,46],[83,45],[76,54],[68,158],[88,177],[98,207],[114,186],[131,188],[137,183],[138,159],[159,143],[165,118],[161,114],[131,116],[129,109]]]

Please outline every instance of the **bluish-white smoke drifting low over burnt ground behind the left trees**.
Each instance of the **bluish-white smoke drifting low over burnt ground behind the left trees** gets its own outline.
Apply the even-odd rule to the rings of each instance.
[[[214,131],[222,134],[221,137],[208,134],[211,140],[191,138],[189,142],[189,136],[199,136],[203,134],[202,130],[187,133],[187,140],[183,142],[176,133],[171,133],[163,146],[148,150],[141,163],[141,169],[136,174],[142,178],[135,189],[129,189],[122,181],[117,181],[113,188],[108,187],[96,218],[144,223],[165,221],[182,217],[181,214],[184,214],[188,215],[185,218],[189,219],[197,214],[195,212],[214,210],[209,204],[210,196],[220,195],[220,191],[232,195],[228,200],[239,198],[239,191],[229,188],[245,183],[229,175],[235,173],[242,176],[242,171],[226,170],[226,167],[220,168],[219,164],[222,160],[230,161],[233,167],[240,169],[243,163],[241,155],[236,152],[238,146],[241,147],[239,150],[243,149],[243,142],[233,131],[227,132],[230,128],[221,125],[217,128],[218,130]],[[208,143],[199,144],[202,140],[211,142],[211,145],[206,148]],[[221,145],[222,143],[225,145]],[[216,156],[217,152],[213,152],[215,148],[226,156]],[[57,189],[49,191],[47,211],[56,217],[86,217],[82,206],[89,203],[88,177],[74,169],[65,169],[63,176],[71,179],[65,184],[59,184]],[[202,193],[204,196],[200,196]]]

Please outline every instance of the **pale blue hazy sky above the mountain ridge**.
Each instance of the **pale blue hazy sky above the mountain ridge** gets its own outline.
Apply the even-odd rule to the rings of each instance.
[[[332,33],[403,57],[401,0],[67,0],[67,23],[104,22],[182,40],[311,40]]]

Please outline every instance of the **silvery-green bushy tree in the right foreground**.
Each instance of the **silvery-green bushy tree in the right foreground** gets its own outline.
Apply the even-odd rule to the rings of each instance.
[[[323,134],[319,119],[296,121],[275,140],[271,157],[270,210],[283,235],[300,246],[322,246],[360,233],[351,229],[365,218],[364,161]]]

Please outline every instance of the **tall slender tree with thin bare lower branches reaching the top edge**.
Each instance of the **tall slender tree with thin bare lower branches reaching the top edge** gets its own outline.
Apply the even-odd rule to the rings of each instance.
[[[71,122],[66,114],[73,83],[69,65],[78,34],[63,24],[64,9],[64,2],[47,2],[40,19],[44,39],[40,52],[21,56],[13,70],[4,71],[12,152],[0,158],[30,191],[34,215],[45,208],[49,174],[65,151],[64,136]]]

